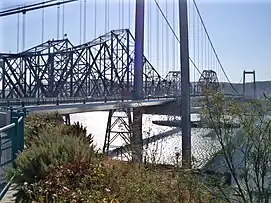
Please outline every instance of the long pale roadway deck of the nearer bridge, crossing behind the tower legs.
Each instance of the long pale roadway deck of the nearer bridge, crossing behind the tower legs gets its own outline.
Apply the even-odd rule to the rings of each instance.
[[[241,97],[226,96],[231,100],[242,100]],[[191,97],[191,113],[199,113],[203,96]],[[29,112],[58,112],[61,115],[85,113],[92,111],[121,110],[123,108],[142,107],[145,114],[181,115],[180,97],[148,97],[143,100],[127,98],[22,98],[0,99],[0,107],[25,107]]]

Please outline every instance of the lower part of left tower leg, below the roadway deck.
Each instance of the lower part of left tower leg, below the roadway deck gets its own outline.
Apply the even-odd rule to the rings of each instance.
[[[133,130],[131,137],[132,161],[142,162],[143,138],[142,138],[142,108],[133,109]]]

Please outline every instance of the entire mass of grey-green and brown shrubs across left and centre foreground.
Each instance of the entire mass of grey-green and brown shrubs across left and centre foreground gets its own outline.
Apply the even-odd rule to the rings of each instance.
[[[223,202],[210,200],[212,191],[195,174],[103,157],[79,123],[33,115],[26,130],[28,147],[7,175],[15,175],[17,202]]]

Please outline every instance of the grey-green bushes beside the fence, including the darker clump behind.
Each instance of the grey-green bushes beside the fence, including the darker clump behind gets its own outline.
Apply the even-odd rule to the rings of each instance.
[[[55,167],[75,160],[94,162],[93,139],[87,136],[82,125],[63,124],[59,114],[34,114],[25,122],[26,149],[15,161],[15,169],[7,171],[7,179],[12,176],[17,185],[17,200],[28,201],[24,184],[32,184],[44,179]]]

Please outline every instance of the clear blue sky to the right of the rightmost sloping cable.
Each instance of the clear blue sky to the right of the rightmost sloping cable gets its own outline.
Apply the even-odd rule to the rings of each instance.
[[[257,80],[271,79],[271,2],[201,4],[200,10],[230,78],[254,69]]]

